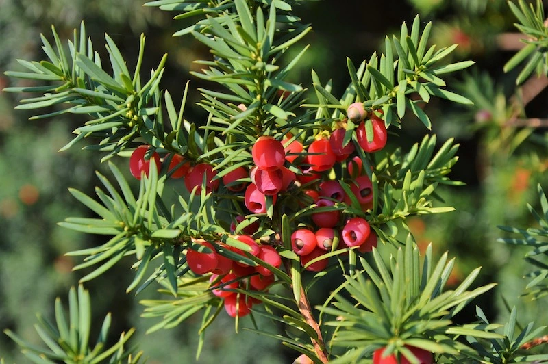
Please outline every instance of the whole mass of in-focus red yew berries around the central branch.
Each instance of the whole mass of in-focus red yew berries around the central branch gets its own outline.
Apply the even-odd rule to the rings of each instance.
[[[245,110],[245,106],[238,108]],[[361,217],[343,216],[341,211],[345,205],[358,201],[363,210],[373,205],[372,183],[362,168],[362,159],[353,155],[358,145],[366,153],[373,153],[384,148],[387,140],[384,121],[374,114],[368,114],[362,103],[353,103],[347,109],[350,120],[358,124],[354,130],[357,144],[345,144],[345,122],[339,122],[338,129],[328,134],[321,132],[316,138],[303,146],[299,138],[286,133],[282,140],[273,136],[263,135],[256,140],[251,148],[253,166],[249,169],[239,166],[228,173],[217,176],[214,166],[208,163],[199,163],[192,166],[190,161],[182,155],[169,154],[164,157],[163,163],[169,166],[167,171],[173,178],[184,177],[184,184],[189,192],[196,189],[201,192],[205,182],[206,193],[216,191],[220,181],[223,186],[234,194],[243,197],[243,204],[249,213],[266,213],[267,202],[275,205],[280,196],[291,194],[301,201],[301,207],[314,203],[314,210],[308,216],[297,220],[297,228],[291,235],[292,250],[301,257],[301,263],[307,270],[319,272],[327,266],[327,259],[320,259],[308,264],[312,259],[325,255],[326,250],[358,246],[358,252],[369,252],[377,245],[377,235],[371,230],[368,222]],[[364,119],[370,118],[373,126],[373,139],[366,138]],[[298,135],[297,135],[298,136]],[[141,174],[149,172],[151,159],[160,172],[160,155],[151,151],[149,146],[140,146],[132,154],[129,166],[134,177],[140,179]],[[347,161],[349,159],[349,161]],[[346,166],[347,178],[345,181],[350,187],[351,196],[339,181],[329,179],[329,171],[336,166]],[[340,169],[340,168],[338,168]],[[342,168],[345,170],[345,168]],[[251,181],[251,183],[250,183]],[[287,193],[286,193],[287,192]],[[269,201],[270,199],[270,201]],[[288,204],[291,205],[291,204]],[[338,209],[322,209],[323,207],[339,207]],[[258,245],[251,237],[260,229],[260,224],[248,224],[241,232],[236,231],[236,224],[245,220],[245,216],[235,216],[231,229],[238,240],[251,247],[251,254],[263,259],[267,263],[279,267],[281,259],[275,248],[268,245]],[[302,226],[302,227],[301,227]],[[310,228],[310,229],[309,229]],[[187,261],[190,269],[197,274],[215,274],[212,282],[221,285],[214,292],[223,294],[225,307],[231,315],[245,315],[253,303],[252,299],[245,298],[227,289],[234,289],[245,284],[253,289],[262,290],[271,282],[265,278],[272,277],[272,272],[263,267],[252,267],[241,262],[232,261],[216,252],[215,248],[230,249],[221,243],[215,246],[208,242],[197,241],[211,252],[198,252],[188,248]],[[242,252],[239,252],[242,254]],[[251,276],[258,273],[259,275]],[[242,278],[247,277],[250,278]],[[256,278],[254,278],[256,277]],[[261,281],[260,283],[258,281]],[[264,283],[263,281],[266,281]],[[266,284],[266,285],[265,285]],[[230,288],[227,288],[230,287]],[[237,303],[237,304],[236,304]],[[239,307],[236,310],[234,307]]]

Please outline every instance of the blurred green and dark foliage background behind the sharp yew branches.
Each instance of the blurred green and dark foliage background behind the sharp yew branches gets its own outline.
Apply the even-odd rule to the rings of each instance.
[[[40,33],[51,38],[53,24],[61,38],[71,38],[73,28],[82,20],[96,49],[101,49],[103,34],[108,32],[130,63],[136,60],[139,35],[144,32],[144,69],[153,68],[163,53],[169,53],[169,77],[164,77],[162,86],[169,89],[173,99],[181,99],[188,79],[192,90],[205,86],[188,72],[197,69],[192,60],[208,57],[207,49],[191,38],[171,36],[184,27],[184,23],[171,20],[175,14],[145,8],[135,0],[0,0],[0,9],[0,89],[23,86],[25,81],[3,76],[5,70],[20,70],[16,59],[44,57]],[[548,190],[548,129],[524,129],[507,123],[516,73],[504,75],[502,66],[519,42],[510,34],[515,31],[514,18],[506,1],[346,0],[336,5],[331,1],[304,1],[295,10],[314,27],[302,43],[312,45],[308,57],[292,75],[293,82],[305,86],[310,87],[310,68],[314,68],[323,82],[332,79],[334,89],[342,92],[349,82],[345,56],[359,64],[373,51],[382,51],[384,36],[399,32],[401,22],[410,23],[417,13],[421,20],[434,22],[432,40],[436,44],[460,44],[455,60],[477,62],[467,77],[460,75],[449,83],[476,101],[475,107],[434,101],[427,105],[432,131],[410,118],[404,120],[398,135],[390,138],[392,146],[402,146],[403,150],[420,141],[425,133],[436,133],[440,144],[456,138],[461,145],[460,160],[451,177],[464,181],[466,186],[441,190],[447,204],[457,211],[414,218],[409,226],[419,246],[432,242],[438,254],[449,250],[457,257],[453,284],[478,265],[484,269],[477,285],[499,282],[495,290],[477,302],[489,317],[504,320],[508,310],[503,300],[507,300],[521,308],[521,323],[534,319],[537,324],[546,324],[548,313],[542,309],[546,302],[519,298],[526,284],[522,276],[530,270],[523,261],[524,251],[496,242],[503,236],[497,225],[533,226],[527,203],[538,205],[538,183]],[[300,49],[295,47],[293,51]],[[14,110],[18,98],[29,96],[0,93],[0,328],[10,328],[38,342],[33,328],[35,313],[52,317],[54,298],[60,296],[66,301],[69,287],[84,273],[72,272],[79,261],[64,253],[102,242],[101,237],[56,225],[68,216],[89,213],[67,188],[93,194],[99,184],[94,171],[105,172],[105,166],[99,164],[99,155],[79,150],[84,144],[58,153],[71,139],[71,131],[84,120],[62,116],[29,121],[31,114]],[[527,117],[547,118],[547,97],[546,91],[540,92],[525,108]],[[199,93],[192,92],[189,100],[192,104],[199,101]],[[199,123],[206,115],[194,108],[188,109],[186,118]],[[127,160],[118,162],[127,169]],[[125,261],[86,284],[94,302],[94,315],[102,318],[112,312],[116,333],[135,326],[134,341],[140,343],[149,363],[193,362],[200,318],[179,328],[145,335],[155,322],[140,317],[138,300],[152,297],[155,292],[150,287],[138,297],[125,294],[133,275],[129,265],[130,261]],[[319,291],[314,299],[320,302],[328,293]],[[474,320],[473,307],[461,313],[459,320]],[[297,356],[277,341],[245,332],[236,335],[233,322],[222,314],[209,329],[199,363],[290,363]],[[3,334],[0,357],[7,363],[25,363],[18,348]]]

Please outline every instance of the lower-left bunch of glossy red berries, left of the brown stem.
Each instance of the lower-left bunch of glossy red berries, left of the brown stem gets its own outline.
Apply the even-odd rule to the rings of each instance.
[[[249,246],[249,254],[269,263],[275,268],[282,265],[282,257],[278,252],[269,245],[259,245],[249,235],[236,235],[243,244]],[[237,288],[244,288],[255,291],[268,291],[268,287],[274,283],[275,276],[271,270],[262,265],[248,265],[242,261],[234,261],[216,251],[214,244],[206,242],[203,239],[197,239],[195,244],[208,248],[203,251],[201,249],[188,248],[186,252],[186,262],[192,272],[196,274],[212,273],[210,284],[212,293],[220,298],[223,298],[225,310],[232,317],[243,317],[247,315],[254,303],[260,303],[245,294],[233,291]],[[239,255],[245,256],[245,253],[231,246],[227,246],[220,242],[215,244],[221,249],[231,250]]]

